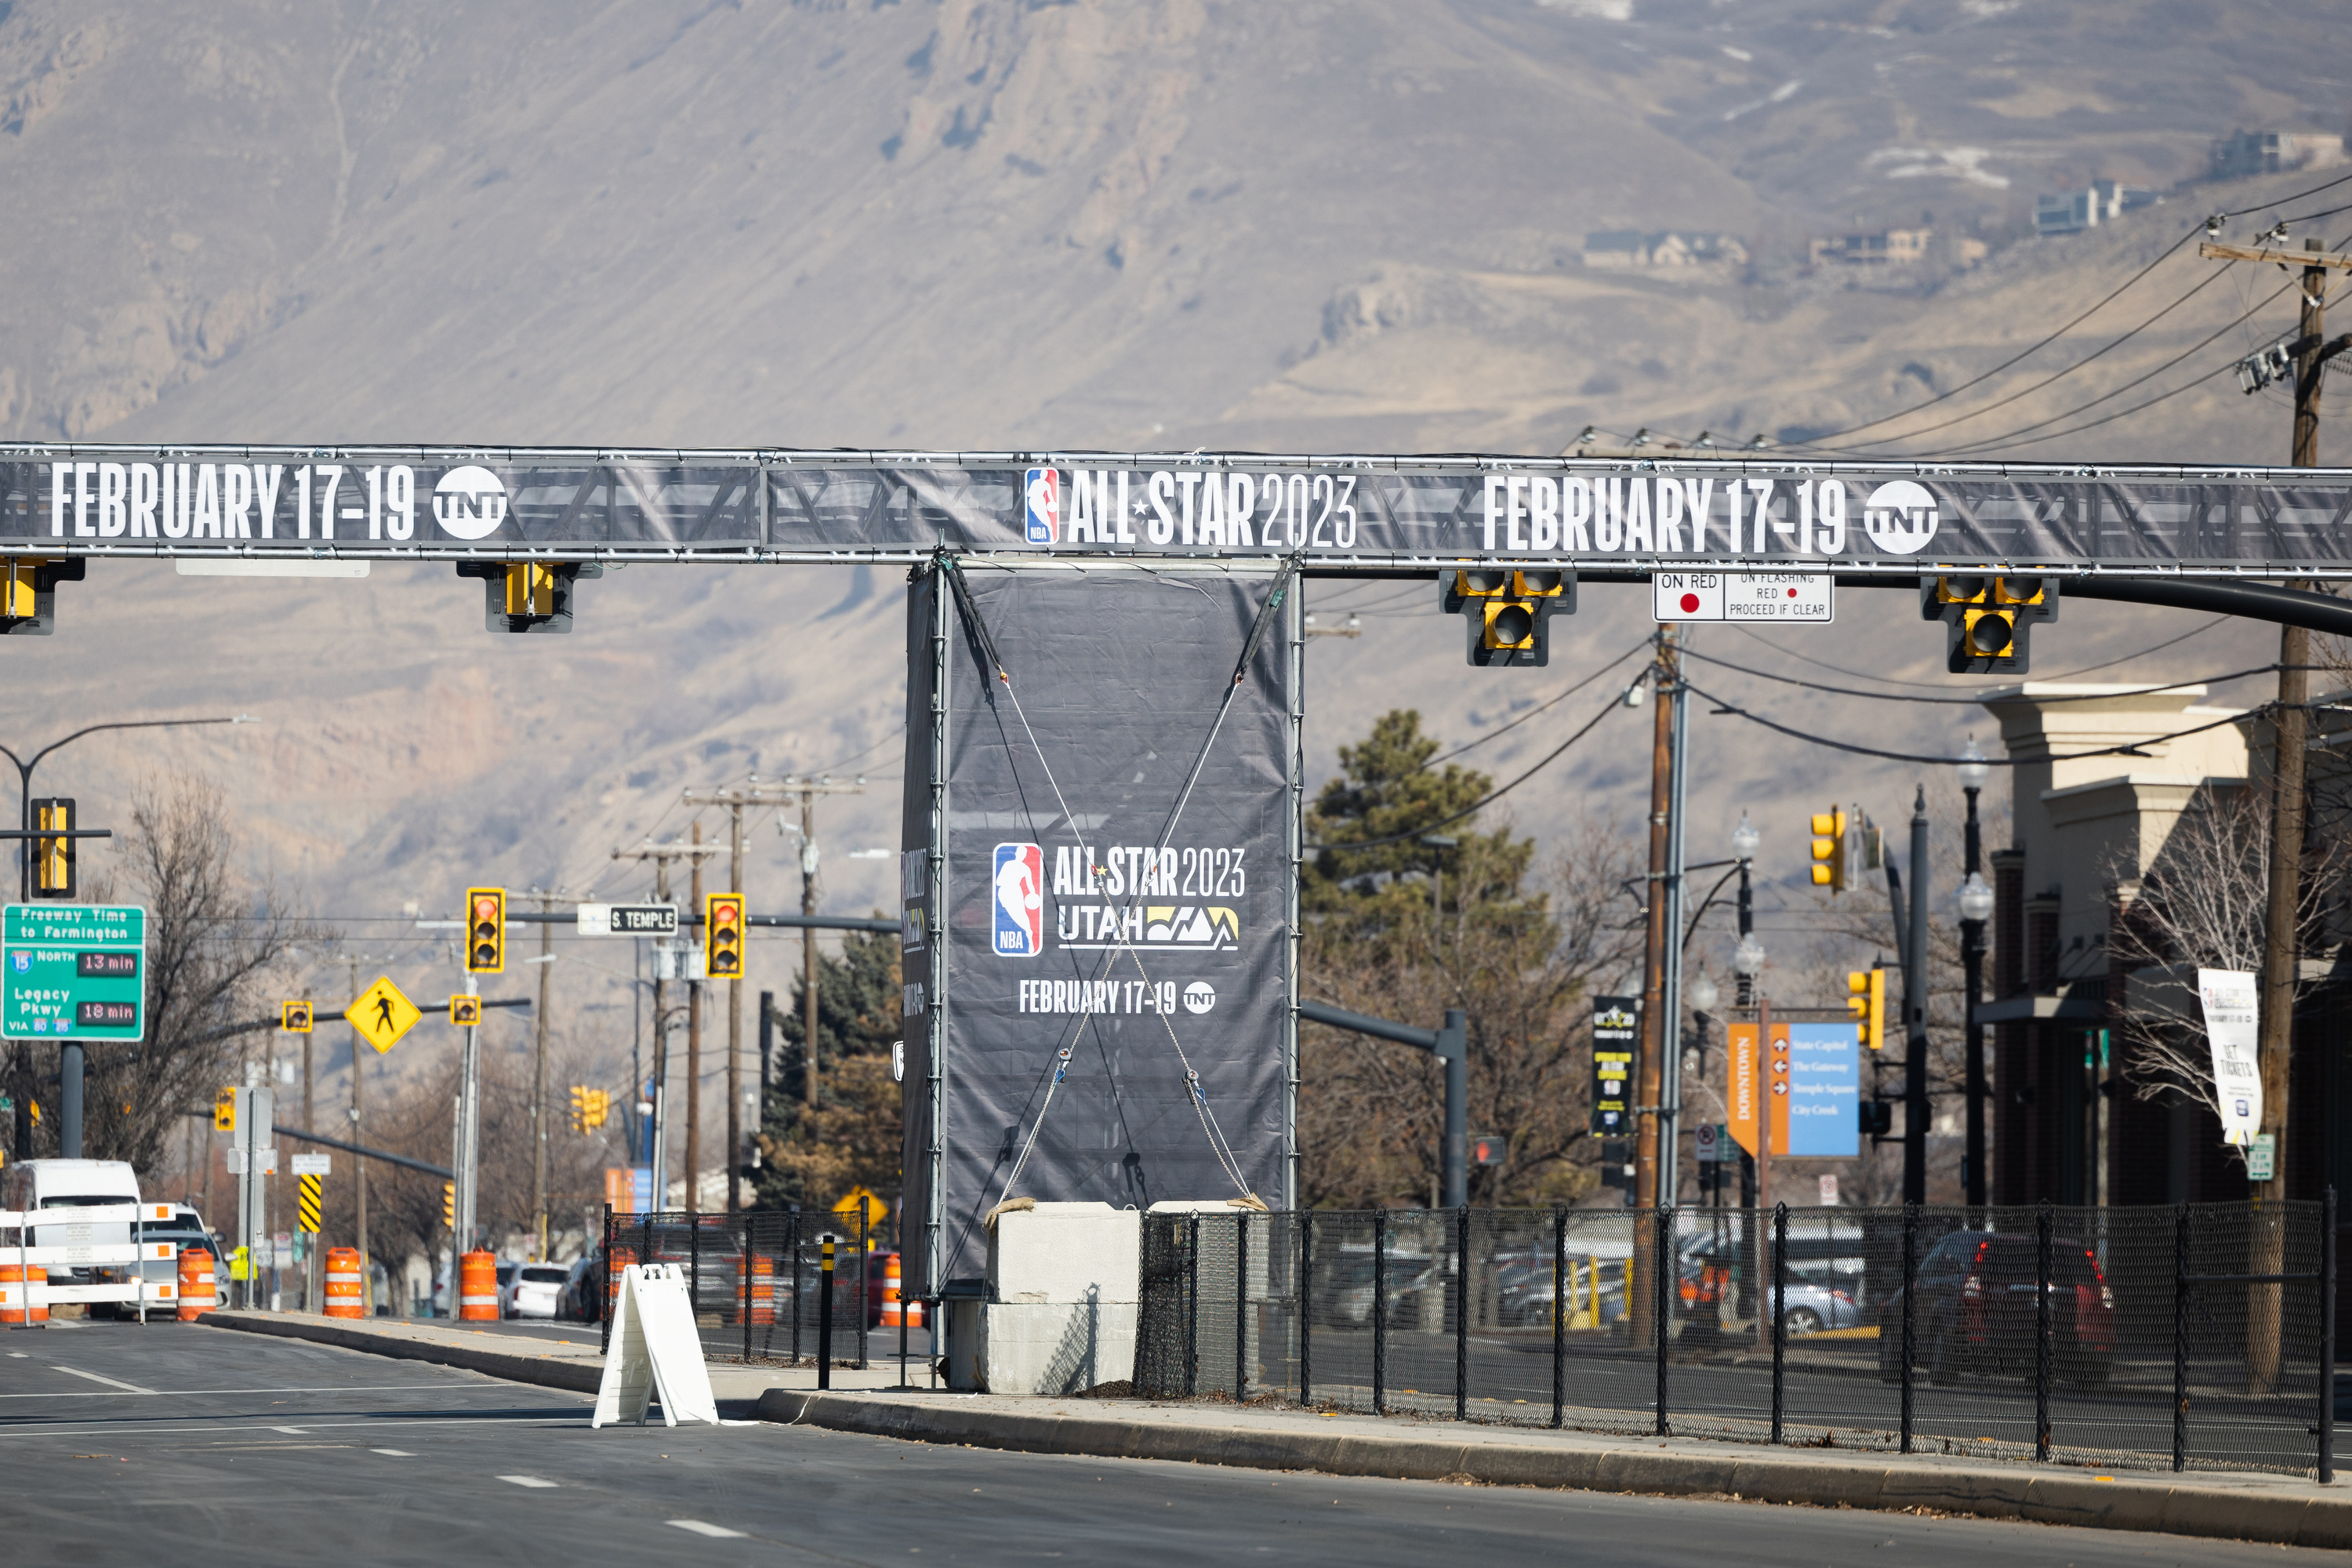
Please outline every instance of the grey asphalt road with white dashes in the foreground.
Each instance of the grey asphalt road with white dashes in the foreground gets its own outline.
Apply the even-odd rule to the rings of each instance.
[[[0,1530],[42,1563],[2277,1563],[2279,1547],[988,1453],[588,1401],[158,1324],[0,1333]]]

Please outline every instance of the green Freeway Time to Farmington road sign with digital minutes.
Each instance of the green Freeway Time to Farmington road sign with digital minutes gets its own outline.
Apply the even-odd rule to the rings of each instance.
[[[0,1039],[143,1039],[146,910],[0,910]]]

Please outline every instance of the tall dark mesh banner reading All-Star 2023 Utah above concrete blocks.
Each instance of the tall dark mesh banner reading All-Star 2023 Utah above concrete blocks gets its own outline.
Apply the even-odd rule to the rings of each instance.
[[[1056,494],[1030,505],[1047,527]],[[1272,588],[917,578],[901,875],[917,1279],[981,1274],[1007,1199],[1282,1206],[1298,635],[1296,595],[1268,609]]]

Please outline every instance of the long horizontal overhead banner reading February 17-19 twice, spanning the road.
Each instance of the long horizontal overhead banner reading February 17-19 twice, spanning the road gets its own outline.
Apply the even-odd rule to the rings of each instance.
[[[1277,557],[2352,576],[2352,470],[1256,454],[0,447],[47,555]]]

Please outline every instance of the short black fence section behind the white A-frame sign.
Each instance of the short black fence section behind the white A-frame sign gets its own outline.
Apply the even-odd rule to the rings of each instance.
[[[826,1333],[826,1244],[833,1244],[833,1326]],[[675,1262],[687,1272],[694,1326],[710,1359],[814,1361],[830,1340],[835,1366],[866,1366],[866,1326],[882,1255],[861,1213],[614,1213],[593,1269],[593,1305],[612,1349],[621,1269]]]

